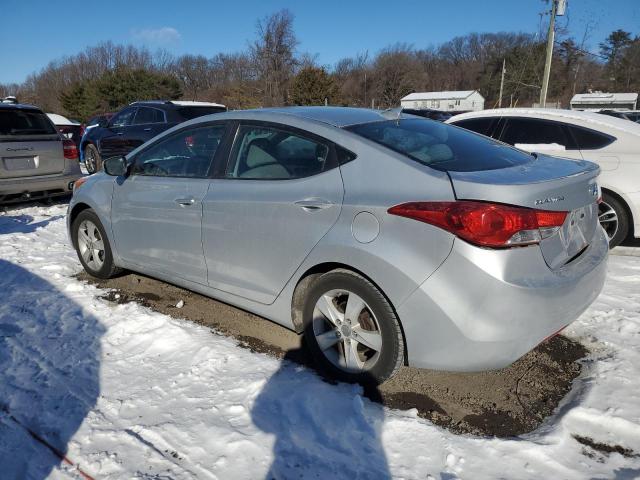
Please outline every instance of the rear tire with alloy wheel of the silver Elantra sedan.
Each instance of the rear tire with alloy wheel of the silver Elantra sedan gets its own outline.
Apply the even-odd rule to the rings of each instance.
[[[305,298],[303,322],[305,344],[330,378],[377,385],[404,363],[398,317],[380,290],[355,272],[318,277]]]

